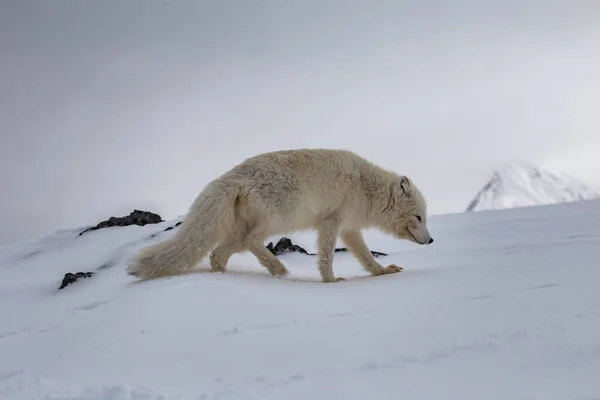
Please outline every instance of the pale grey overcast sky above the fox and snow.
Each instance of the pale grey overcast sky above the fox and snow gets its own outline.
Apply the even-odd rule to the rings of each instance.
[[[185,214],[256,153],[355,150],[457,212],[525,159],[600,188],[600,2],[3,0],[0,243]]]

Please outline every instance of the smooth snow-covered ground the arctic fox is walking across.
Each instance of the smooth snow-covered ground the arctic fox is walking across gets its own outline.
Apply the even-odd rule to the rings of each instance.
[[[405,267],[375,278],[346,253],[335,284],[301,254],[281,256],[289,278],[249,254],[126,275],[174,222],[0,249],[0,398],[600,398],[600,201],[433,217],[431,246],[369,232]]]

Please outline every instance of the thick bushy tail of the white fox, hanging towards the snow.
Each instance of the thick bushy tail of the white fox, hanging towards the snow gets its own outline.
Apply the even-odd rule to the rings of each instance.
[[[198,195],[177,232],[142,249],[128,263],[128,273],[143,279],[177,275],[196,266],[219,236],[235,223],[239,189],[213,181]]]

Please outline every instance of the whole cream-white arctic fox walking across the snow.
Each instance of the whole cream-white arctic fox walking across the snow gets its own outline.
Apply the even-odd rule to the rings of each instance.
[[[378,228],[418,244],[433,242],[426,202],[411,180],[347,150],[299,149],[263,153],[209,182],[178,231],[142,249],[129,261],[130,275],[155,278],[192,269],[209,253],[211,269],[225,272],[229,258],[249,250],[273,275],[287,269],[265,246],[269,236],[314,229],[323,282],[332,269],[338,236],[372,275],[382,267],[361,229]]]

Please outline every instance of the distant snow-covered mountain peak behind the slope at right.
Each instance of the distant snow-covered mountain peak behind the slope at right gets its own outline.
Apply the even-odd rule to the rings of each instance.
[[[467,211],[498,210],[599,199],[576,178],[543,170],[531,163],[507,164],[469,203]]]

